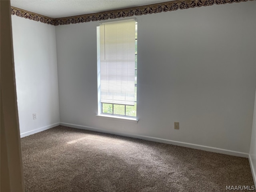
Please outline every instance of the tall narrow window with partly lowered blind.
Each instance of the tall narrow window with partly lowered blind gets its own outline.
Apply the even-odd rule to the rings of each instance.
[[[137,23],[101,23],[97,28],[98,113],[136,118]]]

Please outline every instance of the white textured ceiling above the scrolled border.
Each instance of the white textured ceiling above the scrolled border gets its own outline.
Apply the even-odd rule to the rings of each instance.
[[[11,0],[11,6],[51,18],[61,18],[168,1],[171,0]]]

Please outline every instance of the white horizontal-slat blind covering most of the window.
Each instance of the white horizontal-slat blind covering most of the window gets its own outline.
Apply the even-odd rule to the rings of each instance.
[[[135,20],[100,24],[100,99],[134,105]]]

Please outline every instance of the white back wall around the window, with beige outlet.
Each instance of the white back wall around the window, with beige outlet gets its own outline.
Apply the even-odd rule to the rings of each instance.
[[[56,26],[60,122],[248,154],[255,6],[241,2],[137,16],[138,124],[95,115],[99,22]]]

